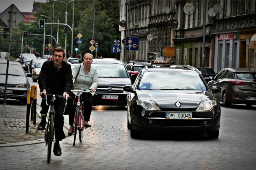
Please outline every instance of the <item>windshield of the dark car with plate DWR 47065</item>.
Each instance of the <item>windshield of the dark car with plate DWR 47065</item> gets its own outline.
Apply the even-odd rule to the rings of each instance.
[[[92,63],[92,66],[97,69],[98,77],[128,78],[128,74],[123,64]]]

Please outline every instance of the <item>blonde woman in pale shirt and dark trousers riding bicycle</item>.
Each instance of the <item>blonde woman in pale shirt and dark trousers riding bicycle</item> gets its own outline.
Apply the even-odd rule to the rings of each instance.
[[[90,116],[92,113],[92,99],[94,96],[94,91],[98,87],[98,74],[96,68],[92,67],[92,59],[93,55],[90,53],[86,53],[84,55],[84,63],[78,64],[72,70],[73,80],[76,78],[76,82],[74,84],[74,90],[91,90],[90,93],[82,93],[80,98],[81,101],[84,102],[84,127],[91,127],[88,123],[90,121]],[[79,70],[80,68],[80,70]],[[77,77],[76,77],[77,76]],[[70,95],[73,99],[76,99],[76,94],[71,93]],[[68,136],[71,136],[74,131],[74,114],[76,107],[72,107],[69,114],[69,125],[70,128],[68,130]]]

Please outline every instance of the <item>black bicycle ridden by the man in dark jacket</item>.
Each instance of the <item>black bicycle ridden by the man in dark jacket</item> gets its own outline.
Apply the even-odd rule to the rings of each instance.
[[[44,94],[42,94],[42,98],[44,100],[46,100],[46,105],[50,104],[48,123],[47,123],[47,127],[46,127],[45,133],[44,133],[45,146],[48,146],[47,162],[49,163],[50,159],[51,159],[52,142],[53,142],[53,144],[55,143],[55,138],[54,138],[54,119],[55,119],[54,101],[56,100],[56,98],[62,98],[62,96],[54,95],[54,94],[46,94],[46,97],[44,98]],[[65,101],[66,101],[66,103],[65,103],[65,108],[66,108],[66,105],[68,103],[67,96],[66,96]],[[65,109],[64,109],[64,112],[65,112]]]

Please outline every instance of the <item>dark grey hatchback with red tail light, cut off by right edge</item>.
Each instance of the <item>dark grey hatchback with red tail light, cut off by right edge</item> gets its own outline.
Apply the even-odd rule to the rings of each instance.
[[[210,76],[208,86],[221,89],[214,96],[223,106],[230,104],[256,105],[256,70],[249,68],[224,68],[214,78]]]

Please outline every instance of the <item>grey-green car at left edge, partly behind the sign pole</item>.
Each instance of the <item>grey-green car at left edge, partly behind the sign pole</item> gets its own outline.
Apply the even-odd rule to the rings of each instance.
[[[6,81],[6,60],[0,60],[0,98],[4,98]],[[20,100],[23,104],[27,103],[27,92],[30,88],[27,76],[20,63],[9,61],[8,82],[6,98]]]

